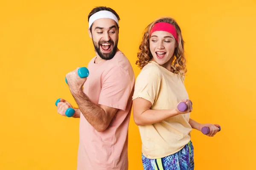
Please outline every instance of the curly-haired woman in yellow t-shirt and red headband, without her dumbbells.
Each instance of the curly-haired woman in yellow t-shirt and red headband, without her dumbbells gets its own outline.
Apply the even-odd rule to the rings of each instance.
[[[170,17],[148,25],[137,54],[142,69],[133,95],[134,121],[142,140],[144,170],[193,170],[192,128],[209,127],[214,136],[219,125],[199,124],[189,118],[192,102],[184,87],[186,59],[180,27]],[[185,102],[186,111],[177,105]]]

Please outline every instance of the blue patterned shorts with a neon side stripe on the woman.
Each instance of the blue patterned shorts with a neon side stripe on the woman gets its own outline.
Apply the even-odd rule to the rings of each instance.
[[[194,170],[194,147],[190,141],[179,152],[159,159],[142,154],[144,170]]]

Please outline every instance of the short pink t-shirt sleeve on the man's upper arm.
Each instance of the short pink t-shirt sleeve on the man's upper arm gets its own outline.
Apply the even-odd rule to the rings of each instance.
[[[128,71],[124,68],[119,66],[111,68],[102,78],[99,105],[125,111],[133,84]]]

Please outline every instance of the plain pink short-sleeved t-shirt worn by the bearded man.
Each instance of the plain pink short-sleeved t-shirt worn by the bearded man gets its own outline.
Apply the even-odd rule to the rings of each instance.
[[[88,64],[84,93],[96,104],[119,109],[110,125],[98,132],[80,117],[77,170],[128,170],[128,125],[134,92],[134,71],[118,51],[113,59]]]

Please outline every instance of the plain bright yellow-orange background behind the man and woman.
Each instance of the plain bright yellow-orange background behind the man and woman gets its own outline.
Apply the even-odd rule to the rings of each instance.
[[[174,17],[188,59],[192,119],[218,123],[215,137],[192,131],[195,170],[254,170],[256,120],[255,0],[1,0],[0,170],[75,170],[79,119],[60,116],[55,101],[75,105],[64,77],[95,56],[87,15],[109,6],[121,17],[119,49],[135,65],[144,28]],[[129,126],[129,170],[142,170],[141,141]]]

